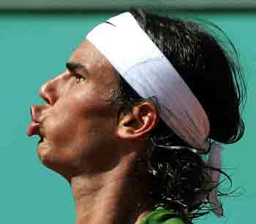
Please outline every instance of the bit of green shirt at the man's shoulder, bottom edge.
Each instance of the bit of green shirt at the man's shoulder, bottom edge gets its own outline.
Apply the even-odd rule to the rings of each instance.
[[[181,218],[172,216],[174,213],[159,206],[156,210],[146,215],[140,224],[184,224]]]

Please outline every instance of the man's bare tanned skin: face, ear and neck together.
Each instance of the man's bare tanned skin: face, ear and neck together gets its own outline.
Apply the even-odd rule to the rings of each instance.
[[[118,107],[110,103],[117,72],[89,41],[68,62],[39,90],[47,102],[35,106],[44,138],[39,159],[69,182],[75,224],[138,224],[156,204],[146,196],[147,179],[135,171],[135,161],[146,152],[157,109],[143,102],[117,119]]]

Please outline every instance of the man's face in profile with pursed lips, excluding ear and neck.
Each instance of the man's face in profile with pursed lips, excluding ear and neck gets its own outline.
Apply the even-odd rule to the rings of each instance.
[[[31,107],[38,124],[28,134],[42,137],[37,153],[45,166],[72,177],[108,163],[116,144],[117,109],[110,104],[115,76],[113,66],[86,40],[67,69],[42,85],[39,95],[46,104]]]

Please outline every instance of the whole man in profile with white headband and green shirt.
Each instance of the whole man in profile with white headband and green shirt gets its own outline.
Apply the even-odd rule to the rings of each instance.
[[[76,224],[192,223],[206,207],[223,216],[221,143],[244,134],[245,93],[226,40],[229,50],[197,23],[131,9],[90,31],[42,85],[27,134],[69,182]]]

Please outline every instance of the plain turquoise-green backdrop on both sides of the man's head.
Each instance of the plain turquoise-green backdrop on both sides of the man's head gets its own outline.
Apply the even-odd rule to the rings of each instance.
[[[75,222],[68,183],[39,162],[36,152],[39,138],[26,136],[31,119],[29,107],[42,104],[38,96],[40,85],[64,69],[69,55],[86,33],[114,14],[1,12],[0,223]],[[236,197],[222,199],[225,217],[207,215],[195,223],[255,223],[256,13],[182,12],[178,15],[211,20],[225,31],[238,49],[248,88],[243,113],[246,133],[240,142],[226,146],[223,152],[224,169],[233,179],[231,190],[240,189]]]

